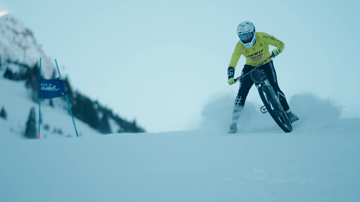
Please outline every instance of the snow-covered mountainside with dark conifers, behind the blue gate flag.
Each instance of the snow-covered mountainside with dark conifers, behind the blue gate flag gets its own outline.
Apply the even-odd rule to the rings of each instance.
[[[58,73],[55,71],[54,63],[42,50],[41,45],[37,43],[31,30],[12,15],[0,17],[0,110],[4,107],[9,115],[6,120],[8,124],[5,124],[3,128],[5,133],[11,131],[21,135],[24,132],[23,127],[30,108],[35,106],[37,111],[39,110],[37,102],[39,99],[40,58],[42,58],[42,76],[47,79],[56,78]],[[80,125],[87,124],[87,127],[90,126],[102,134],[144,132],[144,129],[138,127],[135,120],[122,119],[98,101],[92,101],[87,96],[82,95],[80,91],[73,90],[68,77],[65,77],[64,83],[73,114],[75,118],[78,118],[76,122],[84,122],[79,123]],[[18,105],[14,105],[16,102]],[[45,112],[42,114],[45,117],[45,119],[42,118],[42,127],[48,130],[49,127],[52,128],[52,132],[49,134],[73,136],[71,134],[75,130],[64,97],[43,99],[42,107],[44,109],[46,107],[53,108],[50,110],[50,116]],[[63,118],[58,119],[62,116]],[[46,117],[57,119],[57,121],[51,121]],[[46,123],[46,120],[50,122]],[[63,123],[68,123],[67,120],[70,120],[69,123],[71,124],[63,125]],[[84,130],[86,133],[94,133],[94,131]]]

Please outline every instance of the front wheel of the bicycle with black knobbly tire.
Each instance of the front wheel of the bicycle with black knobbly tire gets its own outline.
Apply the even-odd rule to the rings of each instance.
[[[259,95],[262,102],[264,102],[267,111],[269,112],[271,117],[273,117],[279,127],[283,129],[285,133],[290,133],[292,131],[291,121],[289,120],[284,110],[280,111],[278,105],[276,104],[276,101],[271,95],[269,87],[260,86]]]

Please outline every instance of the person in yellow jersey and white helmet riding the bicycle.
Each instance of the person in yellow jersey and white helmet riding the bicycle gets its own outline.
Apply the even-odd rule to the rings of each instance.
[[[239,61],[241,55],[246,57],[246,64],[241,72],[241,75],[250,72],[256,66],[260,65],[270,57],[269,44],[276,46],[277,48],[271,51],[275,56],[280,54],[284,50],[284,43],[280,40],[277,40],[274,36],[268,35],[264,32],[255,32],[254,25],[249,21],[244,21],[238,25],[237,34],[240,38],[240,41],[235,46],[233,56],[231,56],[231,61],[228,68],[228,83],[232,85],[236,83],[234,81],[234,72],[235,67]],[[261,69],[264,70],[271,86],[274,88],[275,93],[278,95],[281,105],[284,107],[285,113],[288,115],[291,122],[297,121],[299,118],[291,113],[288,102],[286,101],[284,93],[280,90],[278,85],[278,79],[276,78],[276,72],[273,64],[273,59],[267,61]],[[249,93],[253,81],[251,77],[244,78],[243,81],[240,81],[240,89],[238,96],[235,99],[235,107],[233,111],[233,120],[229,127],[229,133],[235,133],[237,129],[237,123],[239,120],[239,113],[244,107],[246,97]]]

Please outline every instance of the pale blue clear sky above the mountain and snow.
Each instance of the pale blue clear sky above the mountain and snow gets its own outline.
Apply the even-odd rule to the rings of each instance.
[[[312,92],[359,115],[359,8],[349,0],[0,2],[73,86],[150,132],[188,129],[213,96],[236,97],[226,71],[245,20],[285,43],[274,66],[287,97]],[[260,103],[255,89],[248,100]]]

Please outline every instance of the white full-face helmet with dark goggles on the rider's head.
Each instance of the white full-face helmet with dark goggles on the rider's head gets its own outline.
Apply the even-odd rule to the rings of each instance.
[[[255,27],[250,21],[244,21],[238,25],[236,29],[241,43],[248,49],[253,46],[256,41]]]

